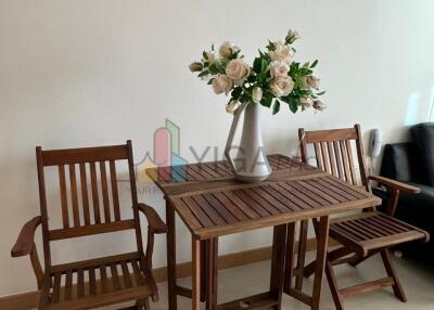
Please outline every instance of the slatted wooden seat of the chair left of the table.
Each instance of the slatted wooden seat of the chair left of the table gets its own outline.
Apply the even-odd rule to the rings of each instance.
[[[140,261],[140,253],[130,253],[53,266],[52,287],[42,287],[49,296],[43,309],[90,309],[148,298],[155,282]]]

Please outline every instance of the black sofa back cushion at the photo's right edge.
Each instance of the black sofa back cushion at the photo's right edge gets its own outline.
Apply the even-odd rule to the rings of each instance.
[[[426,183],[434,186],[434,122],[423,122],[413,126],[411,137],[418,150]]]

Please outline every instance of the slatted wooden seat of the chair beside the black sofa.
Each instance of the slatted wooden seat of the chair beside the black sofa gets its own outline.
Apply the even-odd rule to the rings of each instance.
[[[334,219],[330,236],[362,256],[371,250],[430,238],[425,231],[376,211]]]

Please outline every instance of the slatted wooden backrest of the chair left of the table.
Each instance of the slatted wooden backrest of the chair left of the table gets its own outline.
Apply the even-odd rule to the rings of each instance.
[[[138,250],[143,250],[138,211],[131,141],[124,145],[42,151],[36,147],[46,268],[51,267],[50,242],[136,230]],[[126,160],[131,189],[132,219],[123,219],[116,163]],[[46,169],[59,175],[61,228],[50,229]],[[131,207],[129,206],[129,207]],[[50,208],[55,209],[55,208]]]

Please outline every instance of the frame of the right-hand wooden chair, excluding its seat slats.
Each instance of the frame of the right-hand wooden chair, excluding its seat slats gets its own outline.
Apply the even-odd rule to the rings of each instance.
[[[332,129],[332,130],[319,130],[319,131],[305,131],[304,129],[298,130],[299,142],[301,142],[301,154],[303,162],[308,162],[307,155],[307,144],[314,144],[316,160],[318,168],[334,175],[349,182],[353,185],[361,185],[367,191],[371,192],[370,181],[375,181],[387,186],[391,190],[391,201],[386,209],[386,215],[382,215],[376,211],[375,208],[369,208],[365,210],[362,215],[356,215],[350,217],[343,217],[332,221],[330,236],[335,238],[343,246],[329,251],[326,275],[332,292],[333,300],[335,302],[336,309],[344,309],[344,299],[361,294],[368,293],[374,289],[380,289],[384,286],[392,286],[396,297],[401,301],[406,301],[406,295],[399,283],[398,276],[396,274],[395,268],[391,260],[391,255],[388,248],[393,245],[409,242],[413,240],[422,240],[427,242],[430,235],[417,228],[412,228],[406,223],[400,222],[403,227],[408,230],[407,234],[401,234],[401,237],[395,237],[394,235],[383,238],[369,240],[366,243],[348,242],[346,237],[342,237],[341,233],[333,230],[333,223],[345,223],[350,220],[358,221],[362,218],[380,218],[385,219],[388,222],[397,222],[393,219],[396,210],[396,206],[399,198],[399,192],[405,191],[409,193],[417,194],[420,190],[416,186],[405,184],[395,180],[386,179],[379,176],[369,176],[365,163],[365,154],[361,141],[360,126],[355,125],[354,128],[347,129]],[[360,184],[357,184],[356,169],[353,163],[352,145],[350,141],[356,142],[357,158],[360,175]],[[337,155],[340,154],[340,155]],[[331,156],[335,156],[334,159]],[[333,159],[333,160],[332,160]],[[381,216],[381,217],[380,217]],[[318,232],[318,221],[314,220],[314,228]],[[369,231],[369,229],[367,229]],[[301,242],[298,247],[297,266],[293,271],[296,276],[295,287],[301,289],[303,286],[303,276],[309,276],[315,271],[316,261],[305,267],[305,251],[306,251],[306,240],[307,240],[308,224],[307,222],[302,222],[301,224]],[[363,234],[363,232],[361,232]],[[378,233],[378,232],[375,232]],[[397,233],[396,233],[397,234]],[[317,234],[318,237],[318,234]],[[337,286],[336,277],[333,271],[333,266],[341,263],[350,263],[356,267],[358,263],[365,261],[366,259],[372,257],[375,254],[380,254],[383,260],[384,268],[387,273],[387,277],[372,281],[369,283],[356,285],[353,287],[347,287],[340,289]],[[291,281],[288,281],[291,283]],[[285,290],[289,290],[286,287]]]

